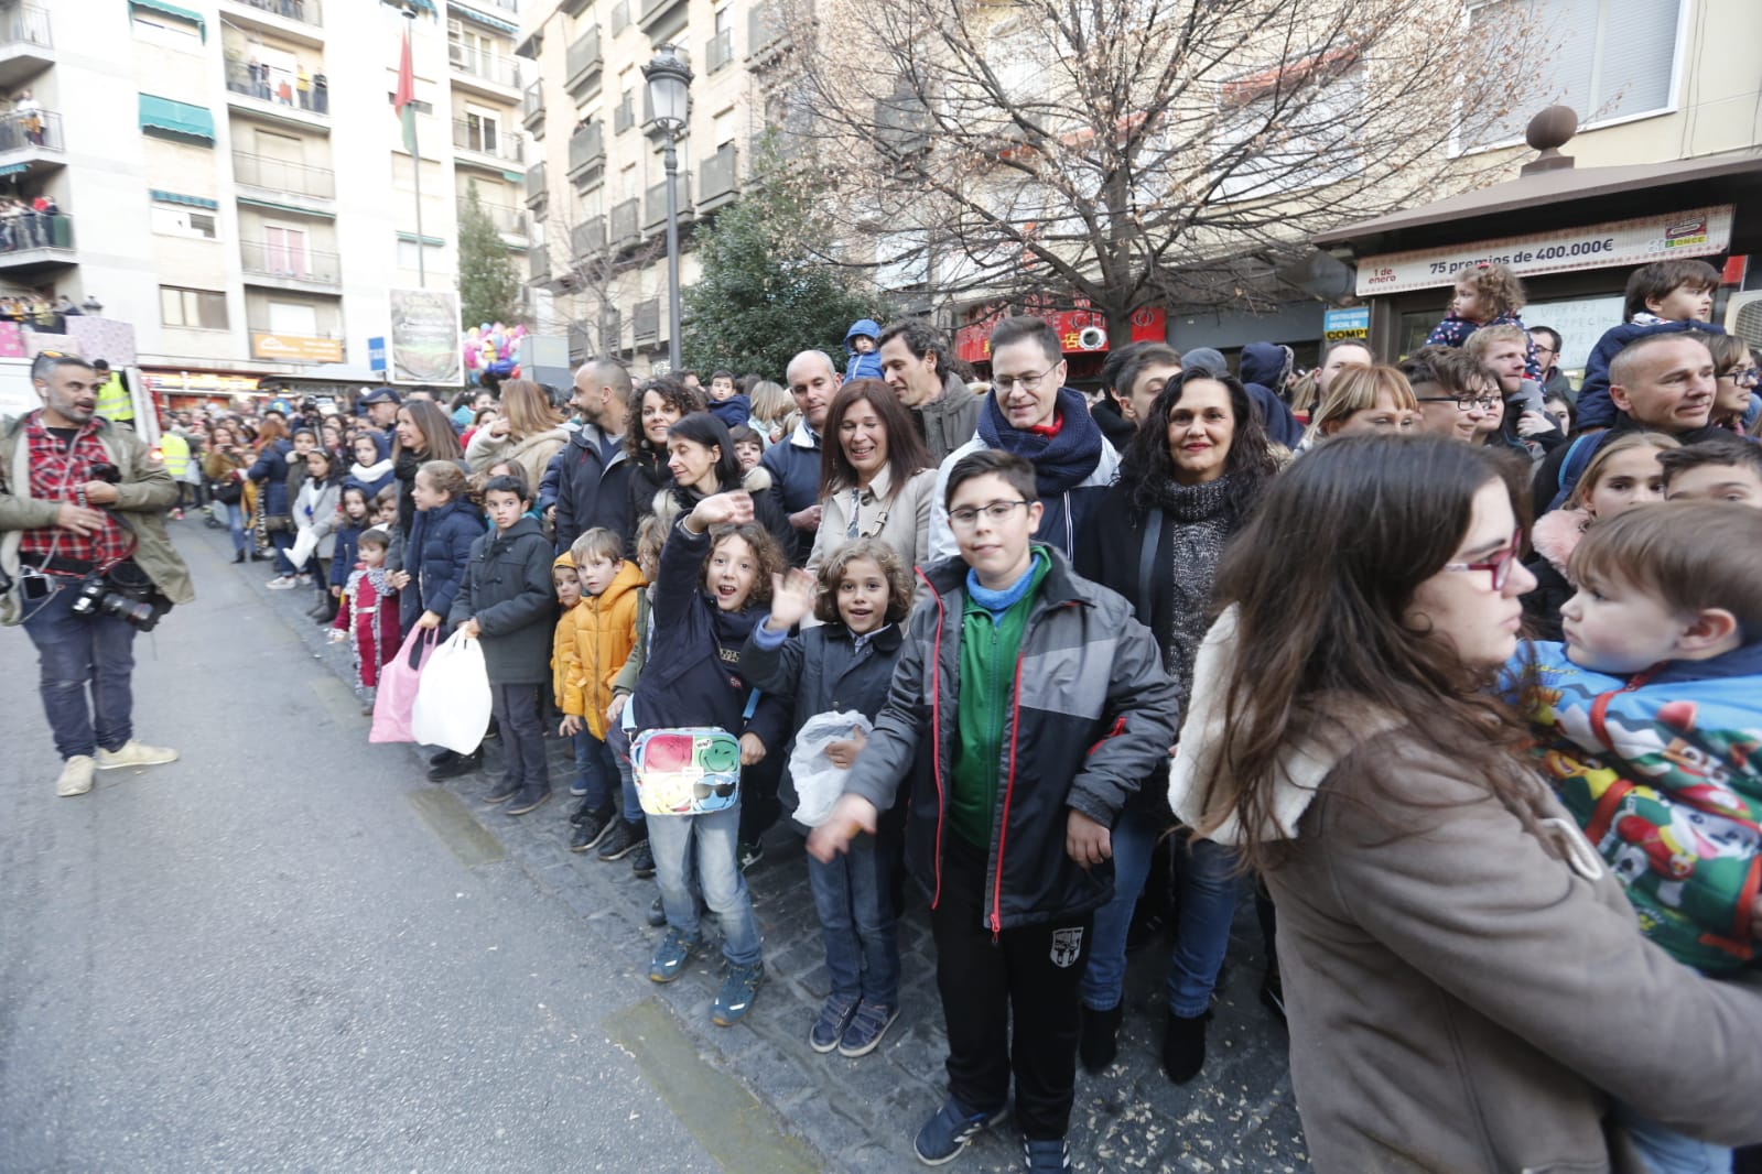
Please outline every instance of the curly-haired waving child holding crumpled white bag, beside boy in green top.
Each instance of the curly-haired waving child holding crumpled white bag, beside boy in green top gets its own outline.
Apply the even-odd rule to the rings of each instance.
[[[892,546],[856,539],[837,547],[819,577],[791,570],[772,591],[770,620],[752,628],[740,671],[766,693],[795,695],[795,729],[814,715],[856,711],[870,722],[886,704],[899,662],[900,621],[911,611],[911,581]],[[823,627],[789,635],[809,613]],[[832,743],[826,757],[846,769],[862,750],[862,730]],[[786,801],[793,797],[784,781]],[[899,922],[892,898],[902,818],[885,818],[877,836],[858,836],[848,854],[807,859],[814,912],[826,945],[832,994],[807,1042],[816,1053],[867,1056],[899,1017]]]

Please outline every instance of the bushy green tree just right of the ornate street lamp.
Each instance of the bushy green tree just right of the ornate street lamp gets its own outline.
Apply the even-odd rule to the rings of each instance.
[[[844,333],[879,319],[881,301],[846,285],[830,260],[821,188],[763,143],[737,204],[698,231],[703,276],[684,292],[682,357],[782,382],[802,350],[825,350],[844,370]]]

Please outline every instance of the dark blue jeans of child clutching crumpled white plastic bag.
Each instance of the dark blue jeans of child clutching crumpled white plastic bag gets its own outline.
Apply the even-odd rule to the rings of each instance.
[[[899,919],[890,845],[856,836],[830,864],[807,857],[807,884],[826,942],[832,994],[899,1007]]]

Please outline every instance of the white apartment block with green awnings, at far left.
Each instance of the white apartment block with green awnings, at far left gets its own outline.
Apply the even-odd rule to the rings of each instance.
[[[388,290],[455,285],[470,185],[527,245],[516,21],[516,0],[0,7],[0,93],[28,90],[41,120],[0,136],[0,195],[60,209],[0,250],[0,287],[97,299],[171,385],[366,378]],[[419,213],[391,109],[405,30]]]

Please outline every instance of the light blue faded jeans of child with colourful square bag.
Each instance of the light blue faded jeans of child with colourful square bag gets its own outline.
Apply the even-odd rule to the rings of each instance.
[[[710,815],[657,815],[648,820],[648,850],[655,855],[666,924],[698,933],[698,901],[691,894],[689,869],[696,862],[703,903],[722,928],[722,956],[735,966],[751,966],[763,959],[763,950],[758,922],[752,921],[752,896],[735,859],[738,833],[738,806]]]

